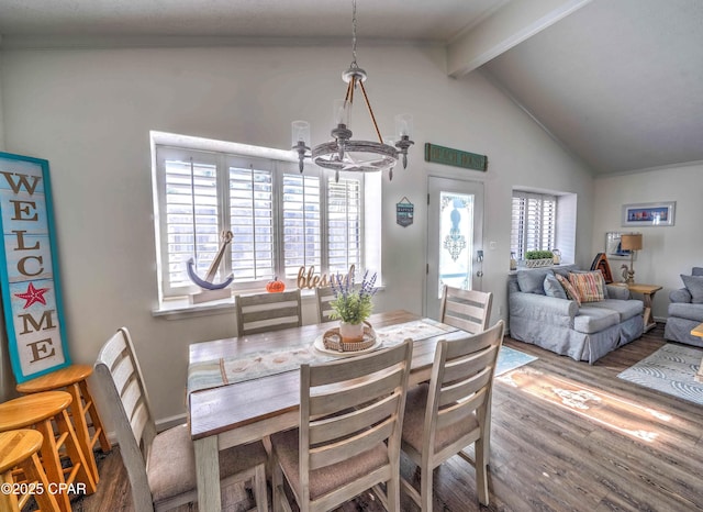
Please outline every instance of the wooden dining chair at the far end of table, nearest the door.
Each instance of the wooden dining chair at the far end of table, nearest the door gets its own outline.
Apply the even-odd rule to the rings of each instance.
[[[477,290],[461,290],[444,285],[439,321],[476,334],[488,329],[491,319],[493,293]]]

